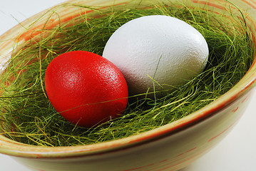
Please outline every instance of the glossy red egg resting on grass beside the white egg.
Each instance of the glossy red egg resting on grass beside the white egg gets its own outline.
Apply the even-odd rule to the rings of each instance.
[[[128,86],[121,71],[88,51],[54,58],[46,68],[45,88],[63,118],[86,128],[117,118],[128,102]]]

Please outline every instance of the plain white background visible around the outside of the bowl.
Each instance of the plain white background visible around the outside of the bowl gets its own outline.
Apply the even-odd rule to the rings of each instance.
[[[20,21],[63,0],[0,0],[0,34]],[[240,122],[217,147],[183,171],[256,170],[256,94]],[[0,154],[1,171],[29,171],[11,157]]]

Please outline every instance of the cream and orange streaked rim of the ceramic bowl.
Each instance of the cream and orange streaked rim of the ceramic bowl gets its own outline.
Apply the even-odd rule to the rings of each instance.
[[[65,4],[65,1],[61,4]],[[61,4],[57,5],[60,6]],[[54,6],[53,6],[54,7]],[[48,9],[31,16],[29,19],[37,19],[42,13],[48,11]],[[26,22],[25,20],[25,22]],[[17,29],[21,28],[21,25],[14,26],[6,33],[15,33]],[[4,33],[0,36],[0,40],[4,38]],[[256,43],[255,43],[256,44]],[[182,130],[190,128],[203,120],[211,118],[216,115],[220,110],[227,108],[229,105],[235,102],[238,98],[242,97],[248,93],[254,86],[256,86],[256,54],[254,56],[254,61],[250,69],[247,71],[245,76],[227,93],[220,96],[217,100],[209,105],[201,108],[200,110],[191,113],[180,120],[176,120],[173,123],[163,125],[160,128],[154,130],[149,130],[145,133],[140,133],[138,135],[132,135],[128,138],[121,138],[118,140],[111,140],[108,142],[100,142],[92,145],[77,145],[71,147],[40,147],[36,145],[26,145],[21,142],[16,142],[5,138],[0,135],[0,152],[5,155],[11,155],[16,157],[29,157],[29,158],[59,158],[59,157],[78,157],[87,155],[103,154],[106,152],[113,152],[117,150],[123,150],[130,147],[135,147],[136,145],[142,145],[148,142],[153,142],[155,140],[160,140]]]

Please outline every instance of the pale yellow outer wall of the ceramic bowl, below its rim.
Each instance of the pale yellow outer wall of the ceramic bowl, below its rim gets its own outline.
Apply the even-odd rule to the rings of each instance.
[[[240,119],[249,98],[250,95],[246,94],[216,115],[211,115],[210,118],[185,130],[133,147],[89,156],[60,156],[51,160],[41,157],[30,160],[21,157],[16,159],[34,170],[41,165],[43,170],[47,171],[179,170],[208,152],[230,132]]]

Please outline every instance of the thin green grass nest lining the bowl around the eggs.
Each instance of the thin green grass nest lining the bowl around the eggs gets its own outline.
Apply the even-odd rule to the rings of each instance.
[[[89,145],[137,135],[172,123],[213,102],[235,86],[251,66],[254,45],[242,14],[235,16],[230,11],[227,17],[180,4],[115,8],[96,10],[101,18],[93,19],[85,14],[74,26],[63,24],[45,29],[48,36],[40,41],[31,38],[24,46],[15,48],[6,71],[1,73],[1,135],[41,146]],[[131,19],[153,14],[174,16],[203,34],[210,50],[205,71],[163,98],[131,100],[124,115],[96,128],[79,128],[56,113],[44,91],[48,63],[67,51],[102,55],[106,41],[117,28]]]

